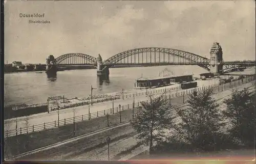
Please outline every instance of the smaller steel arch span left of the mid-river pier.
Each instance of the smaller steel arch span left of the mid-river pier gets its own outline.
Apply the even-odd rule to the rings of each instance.
[[[83,60],[81,60],[83,59]],[[61,62],[64,64],[75,64],[75,61],[79,62],[81,65],[82,64],[89,64],[89,65],[96,65],[97,64],[97,59],[95,57],[90,56],[89,54],[84,54],[84,53],[67,53],[67,54],[62,54],[58,58],[55,59],[55,62],[57,65],[59,65]]]

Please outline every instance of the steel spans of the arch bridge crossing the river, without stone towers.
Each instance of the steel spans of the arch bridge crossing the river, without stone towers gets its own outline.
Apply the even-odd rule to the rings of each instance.
[[[101,57],[100,57],[101,58]],[[54,59],[54,63],[58,66],[97,66],[97,58],[84,53],[67,53]],[[232,68],[241,68],[247,66],[255,66],[255,61],[233,61],[219,63],[222,70],[225,71]],[[161,47],[144,47],[126,50],[115,54],[111,58],[100,62],[102,67],[110,68],[113,66],[158,66],[158,65],[198,65],[206,70],[210,70],[210,60],[201,57],[195,53],[183,50]]]

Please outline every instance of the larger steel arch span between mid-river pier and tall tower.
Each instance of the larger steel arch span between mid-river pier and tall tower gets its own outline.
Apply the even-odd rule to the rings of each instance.
[[[136,58],[137,63],[140,64],[139,58],[142,58],[143,60],[143,53],[147,55],[147,52],[150,54],[150,62],[146,62],[147,64],[174,64],[180,63],[181,65],[198,65],[204,69],[209,70],[209,62],[210,60],[204,57],[201,57],[197,54],[190,53],[187,51],[183,50],[178,50],[178,49],[172,49],[172,48],[161,48],[161,47],[143,47],[143,48],[135,48],[135,49],[130,49],[126,50],[120,53],[115,54],[111,58],[107,59],[104,61],[105,65],[116,65],[116,64],[135,64],[136,63]],[[153,53],[152,53],[153,52]],[[158,53],[159,55],[159,60],[156,62],[156,54]],[[160,56],[162,54],[162,61],[160,61]],[[170,55],[173,57],[178,58],[178,62],[175,60],[171,62],[170,60]],[[132,58],[134,56],[134,59]],[[152,56],[153,56],[153,61],[152,61]],[[129,58],[130,57],[130,58]],[[147,57],[146,57],[147,58]],[[179,62],[179,58],[183,58],[183,63]],[[125,61],[125,59],[127,59]],[[186,60],[186,63],[184,63],[184,59]],[[129,61],[130,60],[130,61]],[[141,63],[145,64],[145,63]]]

